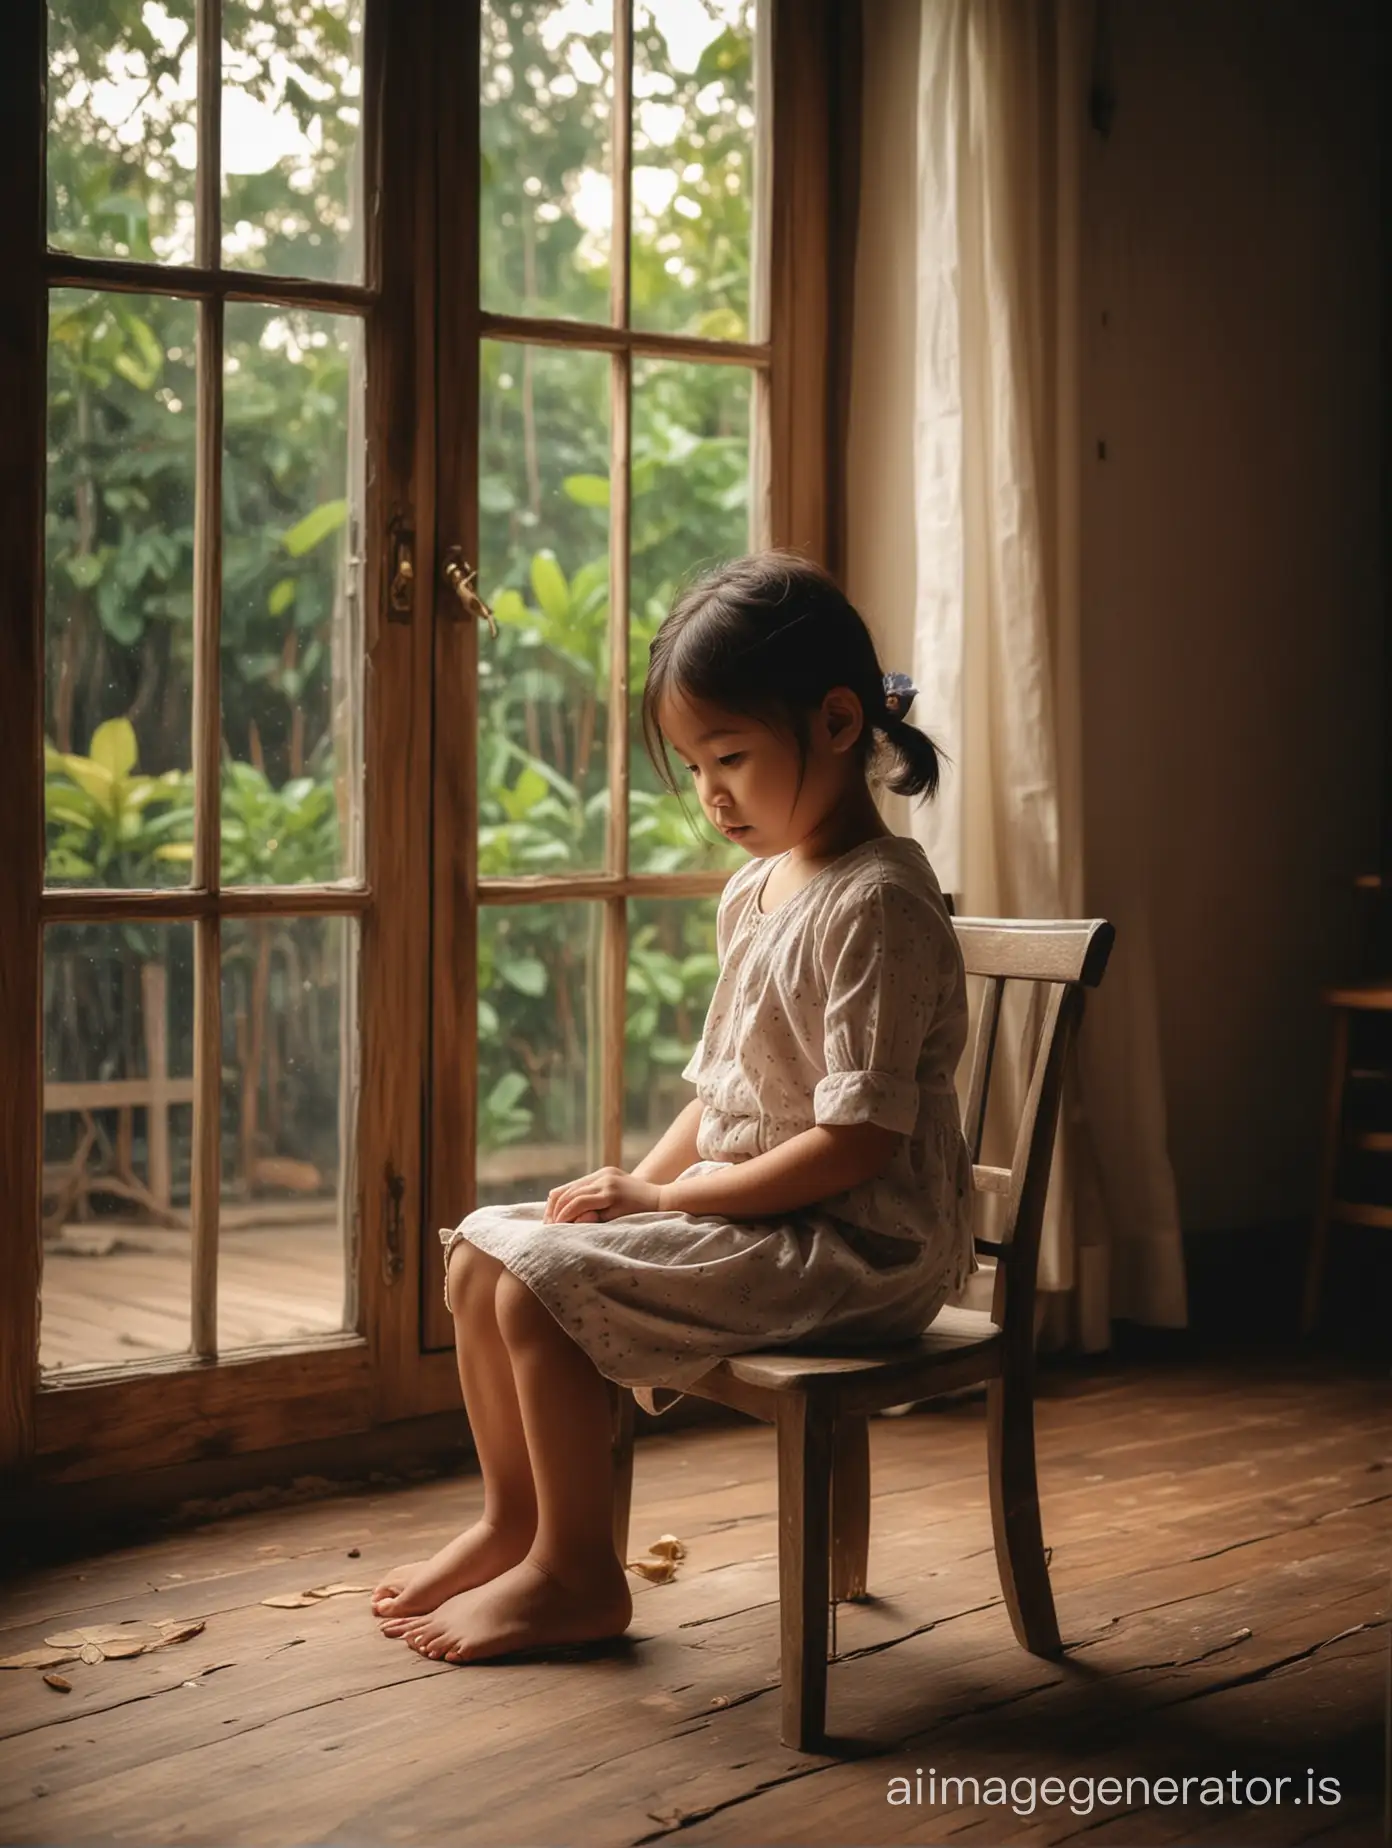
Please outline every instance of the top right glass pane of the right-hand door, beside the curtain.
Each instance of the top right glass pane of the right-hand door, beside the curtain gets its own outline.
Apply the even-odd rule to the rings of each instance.
[[[634,7],[634,327],[751,338],[754,11],[754,0]]]

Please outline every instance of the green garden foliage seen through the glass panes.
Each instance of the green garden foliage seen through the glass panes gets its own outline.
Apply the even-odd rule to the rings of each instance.
[[[647,327],[749,338],[752,0],[702,4],[704,43],[664,33],[638,9],[632,312]],[[360,0],[224,0],[224,31],[226,161],[259,164],[224,179],[224,261],[357,279]],[[488,307],[608,318],[608,235],[593,203],[606,170],[608,67],[599,7],[484,7]],[[192,0],[55,6],[50,79],[50,238],[98,255],[192,261]],[[189,878],[196,340],[196,307],[174,298],[57,290],[52,299],[50,883]],[[355,870],[349,721],[362,534],[349,432],[360,429],[359,323],[229,305],[226,355],[222,876],[333,880]],[[488,342],[481,364],[479,588],[499,623],[497,639],[481,641],[481,870],[599,867],[608,824],[610,362]],[[634,695],[682,578],[747,545],[749,431],[747,370],[636,364]],[[662,793],[641,748],[630,761],[632,865],[664,872],[730,863],[730,850],[697,835]],[[482,913],[484,1151],[593,1135],[592,913]],[[331,935],[320,933],[324,944]],[[118,996],[122,979],[131,992],[139,987],[142,954],[124,926],[50,944],[50,1076],[140,1068],[129,996]],[[277,968],[288,959],[288,948],[272,954]],[[55,1035],[55,1022],[72,1018],[72,992],[91,985],[104,961],[126,968],[122,979],[107,970],[98,983],[116,1000],[85,1044]],[[298,983],[338,979],[336,961],[309,970],[303,963],[301,948],[296,981],[283,987],[290,1013]],[[675,1072],[712,979],[712,902],[634,907],[636,1129],[660,1127],[684,1098]],[[226,1013],[251,1007],[253,989],[248,976],[240,1000],[224,1000]],[[275,1031],[274,1022],[270,1037]],[[235,1044],[229,1029],[229,1088],[248,1033]],[[172,1042],[181,1039],[176,1020]],[[272,1092],[336,1085],[336,1070],[305,1070],[272,1053],[251,1081],[264,1088],[266,1122],[329,1122],[322,1107],[281,1112],[283,1098]],[[227,1137],[248,1149],[257,1142],[255,1125],[246,1133],[246,1103]],[[261,1146],[322,1153],[277,1149],[266,1137]]]

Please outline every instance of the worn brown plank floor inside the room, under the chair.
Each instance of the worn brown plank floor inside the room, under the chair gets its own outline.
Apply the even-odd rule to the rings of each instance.
[[[364,1597],[263,1602],[438,1545],[479,1510],[471,1477],[261,1508],[11,1584],[2,1654],[83,1621],[205,1630],[78,1663],[70,1693],[0,1674],[0,1841],[1377,1842],[1385,1373],[1046,1373],[1061,1663],[1011,1637],[983,1438],[982,1401],[873,1425],[876,1599],[839,1613],[836,1754],[778,1743],[771,1436],[675,1430],[640,1440],[634,1550],[675,1532],[690,1556],[667,1586],[634,1580],[630,1635],[593,1660],[429,1665],[377,1634]],[[917,1770],[922,1804],[889,1804]],[[930,1802],[930,1770],[980,1780],[982,1802],[971,1783]],[[1292,1781],[1281,1807],[1237,1805],[1233,1772],[1239,1796]],[[1307,1774],[1342,1800],[1311,1804]],[[1216,1776],[1226,1800],[1192,1783],[1187,1805],[1139,1785],[1113,1802],[1105,1776]],[[987,1802],[991,1778],[1013,1804]],[[1072,1807],[1039,1798],[1046,1778],[1081,1780]]]

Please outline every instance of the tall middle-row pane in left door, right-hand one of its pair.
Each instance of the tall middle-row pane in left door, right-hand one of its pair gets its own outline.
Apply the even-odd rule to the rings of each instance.
[[[362,325],[227,305],[222,878],[357,874]]]

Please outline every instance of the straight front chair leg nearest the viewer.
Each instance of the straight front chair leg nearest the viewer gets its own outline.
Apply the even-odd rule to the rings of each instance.
[[[826,1737],[832,1421],[806,1393],[788,1393],[776,1430],[782,1741],[815,1752]]]

